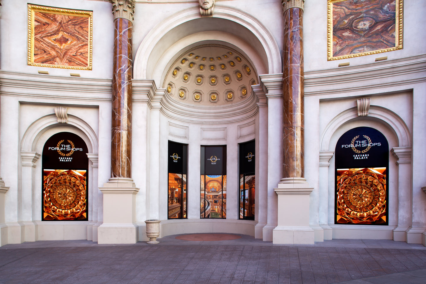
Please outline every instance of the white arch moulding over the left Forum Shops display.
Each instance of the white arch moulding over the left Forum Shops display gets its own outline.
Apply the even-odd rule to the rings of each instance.
[[[49,130],[55,127],[60,128],[60,130],[50,133]],[[44,143],[50,136],[65,129],[80,135],[90,153],[98,153],[98,137],[86,121],[74,115],[68,115],[68,123],[58,123],[58,118],[55,114],[43,116],[28,127],[21,140],[21,151],[41,152]],[[46,132],[49,132],[47,136],[45,135]],[[44,141],[40,141],[42,136],[46,136]]]

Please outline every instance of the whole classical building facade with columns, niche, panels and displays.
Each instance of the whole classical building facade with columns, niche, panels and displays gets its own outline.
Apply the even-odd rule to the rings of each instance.
[[[424,1],[0,3],[1,245],[426,245]]]

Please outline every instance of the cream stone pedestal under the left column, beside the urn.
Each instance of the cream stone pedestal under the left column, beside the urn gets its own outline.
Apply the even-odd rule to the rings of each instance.
[[[110,178],[104,187],[104,223],[98,227],[98,244],[135,244],[138,231],[135,225],[136,194],[130,178]]]

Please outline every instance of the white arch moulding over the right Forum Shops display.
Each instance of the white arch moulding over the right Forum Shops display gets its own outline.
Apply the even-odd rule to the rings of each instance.
[[[385,109],[381,106],[370,106],[368,116],[363,117],[363,119],[360,119],[358,117],[357,108],[353,107],[351,109],[347,109],[341,112],[333,120],[331,120],[330,123],[328,123],[328,125],[325,127],[324,132],[322,133],[320,141],[320,151],[334,151],[337,140],[340,138],[340,136],[343,135],[346,130],[352,128],[352,126],[343,126],[355,120],[356,118],[358,118],[357,121],[359,122],[364,120],[375,120],[385,126],[386,129],[393,134],[392,136],[397,143],[397,145],[395,146],[411,146],[411,134],[402,118],[400,118],[396,113],[392,112],[389,109]],[[360,124],[359,126],[362,125]],[[383,130],[385,129],[378,130],[383,132]],[[389,146],[391,146],[391,141],[389,141]]]

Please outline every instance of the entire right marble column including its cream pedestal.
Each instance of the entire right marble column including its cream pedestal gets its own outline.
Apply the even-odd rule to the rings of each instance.
[[[278,195],[278,226],[273,244],[314,244],[309,226],[309,202],[313,188],[304,177],[303,118],[303,8],[304,0],[282,0],[284,54],[282,66],[283,178]]]

